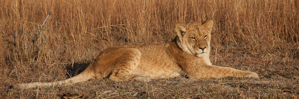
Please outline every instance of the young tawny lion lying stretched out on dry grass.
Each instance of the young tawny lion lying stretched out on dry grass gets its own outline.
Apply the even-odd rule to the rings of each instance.
[[[211,31],[213,21],[203,24],[189,22],[175,26],[176,37],[168,43],[155,45],[122,45],[105,49],[80,74],[66,80],[50,83],[15,84],[17,89],[46,87],[87,81],[91,78],[108,78],[113,81],[187,76],[194,79],[222,77],[253,77],[259,75],[230,67],[212,65]]]

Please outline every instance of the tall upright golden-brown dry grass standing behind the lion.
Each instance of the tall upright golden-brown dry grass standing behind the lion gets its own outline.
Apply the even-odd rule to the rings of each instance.
[[[214,21],[212,47],[218,51],[299,58],[298,0],[1,0],[0,5],[0,25],[11,41],[1,37],[7,64],[2,68],[17,81],[32,72],[65,75],[65,64],[90,62],[109,46],[168,42],[175,24],[191,20]],[[51,21],[35,49],[32,38],[46,11]]]

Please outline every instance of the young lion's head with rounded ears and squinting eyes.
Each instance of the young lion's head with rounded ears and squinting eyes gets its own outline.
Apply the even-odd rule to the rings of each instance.
[[[212,27],[212,20],[206,21],[202,25],[197,22],[178,23],[175,26],[176,42],[184,52],[189,54],[197,57],[209,55]]]

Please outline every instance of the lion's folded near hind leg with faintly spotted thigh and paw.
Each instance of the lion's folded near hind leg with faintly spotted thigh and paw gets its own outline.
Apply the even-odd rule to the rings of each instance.
[[[138,80],[149,81],[150,76],[142,73],[133,74],[140,63],[141,52],[138,49],[122,48],[124,55],[120,56],[114,64],[114,69],[109,77],[110,80]]]

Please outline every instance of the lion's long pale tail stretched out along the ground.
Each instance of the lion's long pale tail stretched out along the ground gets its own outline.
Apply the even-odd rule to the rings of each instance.
[[[15,84],[15,85],[12,85],[11,87],[14,89],[29,89],[29,88],[47,87],[47,86],[55,86],[55,85],[83,82],[83,81],[87,81],[94,77],[94,72],[92,72],[92,70],[90,70],[91,67],[92,66],[88,66],[80,74],[78,74],[74,77],[68,78],[66,80],[57,81],[57,82],[49,82],[49,83],[35,82],[35,83]]]

